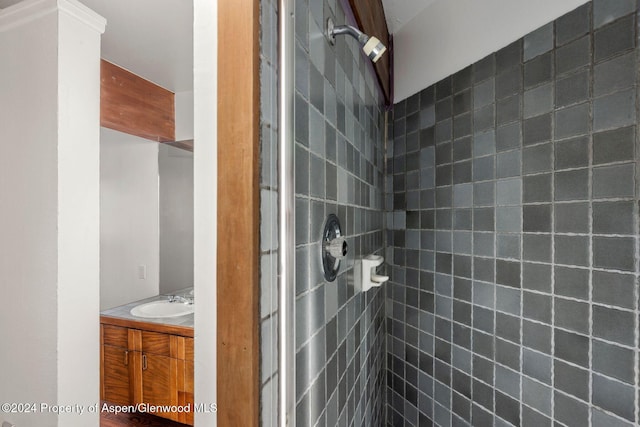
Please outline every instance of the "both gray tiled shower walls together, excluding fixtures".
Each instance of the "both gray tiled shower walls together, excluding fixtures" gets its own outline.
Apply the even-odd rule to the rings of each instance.
[[[276,425],[277,11],[261,3],[261,423]],[[357,46],[322,36],[343,3],[296,1],[296,425],[640,423],[638,10],[588,2],[385,112]],[[329,213],[350,246],[335,282]],[[391,282],[355,293],[370,253]]]

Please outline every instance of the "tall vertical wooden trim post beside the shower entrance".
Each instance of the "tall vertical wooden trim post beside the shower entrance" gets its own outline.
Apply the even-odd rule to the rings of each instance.
[[[217,415],[221,427],[259,423],[259,21],[259,0],[218,2]]]

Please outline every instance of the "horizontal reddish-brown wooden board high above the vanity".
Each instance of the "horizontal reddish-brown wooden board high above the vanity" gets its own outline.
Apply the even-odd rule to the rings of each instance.
[[[174,94],[101,60],[100,126],[153,141],[175,141]]]

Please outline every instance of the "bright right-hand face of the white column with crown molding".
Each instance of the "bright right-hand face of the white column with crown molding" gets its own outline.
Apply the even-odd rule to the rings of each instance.
[[[100,35],[105,22],[80,3],[58,4],[57,402],[89,408],[99,398],[100,386],[98,123]],[[65,427],[97,422],[98,414],[88,410],[82,416],[58,417],[58,425]]]

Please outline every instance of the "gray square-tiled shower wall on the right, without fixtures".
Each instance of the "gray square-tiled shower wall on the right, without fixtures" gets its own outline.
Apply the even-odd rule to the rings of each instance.
[[[640,422],[637,22],[594,0],[394,106],[388,425]]]

